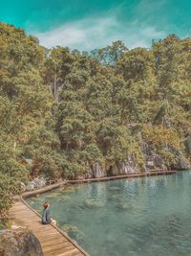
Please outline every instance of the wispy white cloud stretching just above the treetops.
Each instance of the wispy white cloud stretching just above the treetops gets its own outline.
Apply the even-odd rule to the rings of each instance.
[[[129,48],[149,47],[153,38],[165,36],[164,32],[157,31],[155,27],[139,26],[136,21],[124,26],[115,16],[84,18],[45,33],[33,34],[38,36],[40,44],[49,48],[61,45],[87,51],[104,47],[118,39],[124,41]]]

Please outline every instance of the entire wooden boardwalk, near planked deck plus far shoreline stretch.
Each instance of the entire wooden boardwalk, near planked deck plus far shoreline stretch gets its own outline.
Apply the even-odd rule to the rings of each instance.
[[[65,186],[67,184],[74,183],[88,183],[88,182],[99,182],[107,180],[115,180],[121,178],[132,178],[141,176],[151,176],[151,175],[173,175],[175,171],[151,171],[147,173],[140,174],[130,174],[130,175],[117,175],[117,176],[107,176],[100,178],[89,178],[89,179],[79,179],[79,180],[65,180],[53,185],[48,185],[42,189],[25,192],[22,194],[23,198],[30,198],[41,193],[45,193],[52,189]],[[19,196],[14,197],[14,199],[19,199]],[[45,256],[82,256],[88,255],[80,246],[75,244],[75,242],[68,237],[65,233],[59,230],[53,225],[42,225],[40,222],[40,216],[22,199],[14,201],[11,211],[10,219],[13,223],[21,226],[26,226],[32,230],[32,233],[39,240],[42,245],[42,249]]]

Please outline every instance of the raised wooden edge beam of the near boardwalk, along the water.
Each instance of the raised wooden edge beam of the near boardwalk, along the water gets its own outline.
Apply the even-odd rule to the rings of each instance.
[[[34,213],[36,214],[39,218],[41,218],[40,214],[35,211],[25,200],[24,198],[20,197],[20,200]],[[60,234],[62,234],[63,237],[68,239],[81,253],[83,253],[84,256],[90,256],[82,247],[80,247],[72,238],[70,238],[64,231],[62,231],[59,227],[56,225],[53,225],[52,223],[50,224],[53,226],[54,229],[56,229]]]

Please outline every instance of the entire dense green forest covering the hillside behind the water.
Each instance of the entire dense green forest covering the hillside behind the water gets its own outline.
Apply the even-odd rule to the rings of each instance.
[[[81,53],[0,23],[0,98],[1,220],[31,176],[189,168],[190,38]]]

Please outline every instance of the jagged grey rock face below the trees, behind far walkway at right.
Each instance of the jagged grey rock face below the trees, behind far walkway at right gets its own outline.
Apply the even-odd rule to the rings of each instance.
[[[188,150],[191,151],[191,138],[187,142]],[[189,170],[191,166],[189,162],[184,158],[181,151],[174,149],[172,146],[167,146],[168,151],[173,153],[176,158],[176,163],[170,166],[173,170]],[[190,147],[190,148],[189,148]],[[151,170],[167,170],[169,167],[165,163],[159,153],[155,150],[152,145],[147,144],[142,139],[140,140],[140,149],[143,155],[144,163],[143,166],[138,166],[136,157],[132,153],[127,153],[127,157],[122,162],[117,162],[115,165],[110,166],[106,170],[102,169],[98,163],[93,164],[88,167],[87,175],[84,178],[94,178],[94,177],[104,177],[113,175],[127,175],[127,174],[137,174],[138,172],[149,172]]]

